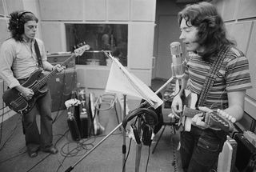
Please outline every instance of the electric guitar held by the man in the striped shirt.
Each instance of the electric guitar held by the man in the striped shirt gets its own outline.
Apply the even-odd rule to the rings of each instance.
[[[187,92],[186,92],[187,91]],[[192,118],[195,114],[203,114],[203,122],[206,122],[206,125],[209,128],[214,130],[224,130],[225,132],[230,132],[234,130],[233,123],[236,119],[229,114],[226,114],[223,110],[214,110],[210,113],[206,113],[201,110],[196,110],[195,105],[198,101],[198,95],[194,93],[190,93],[190,91],[185,90],[185,97],[188,106],[184,106],[182,111],[182,116],[180,118],[180,124],[184,126],[184,130],[190,131]]]

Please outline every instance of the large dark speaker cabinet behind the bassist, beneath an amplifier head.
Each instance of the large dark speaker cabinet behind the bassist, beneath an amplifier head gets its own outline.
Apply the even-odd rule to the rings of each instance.
[[[66,109],[65,101],[71,98],[72,90],[76,88],[76,83],[76,71],[74,68],[63,70],[50,78],[48,86],[52,99],[52,112]]]

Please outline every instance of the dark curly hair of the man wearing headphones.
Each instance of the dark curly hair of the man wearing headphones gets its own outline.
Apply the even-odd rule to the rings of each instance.
[[[28,21],[38,22],[38,18],[35,17],[30,11],[19,10],[10,14],[9,26],[11,37],[16,41],[22,41],[22,34],[24,34],[24,24]]]

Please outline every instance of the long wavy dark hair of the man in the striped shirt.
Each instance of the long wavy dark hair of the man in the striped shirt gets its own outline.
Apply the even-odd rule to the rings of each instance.
[[[226,38],[222,17],[210,2],[186,6],[178,13],[179,25],[182,19],[186,20],[187,26],[195,26],[198,29],[197,42],[204,47],[204,52],[200,53],[204,60],[210,61],[211,56],[217,54],[222,46],[234,45],[234,41]]]

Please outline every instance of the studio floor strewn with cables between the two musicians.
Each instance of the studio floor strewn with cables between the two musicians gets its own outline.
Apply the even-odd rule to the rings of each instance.
[[[161,83],[160,83],[161,84]],[[130,110],[138,107],[140,101],[129,100]],[[163,110],[167,115],[168,110]],[[120,114],[119,118],[120,117]],[[53,112],[54,121],[54,145],[58,148],[58,154],[38,152],[36,158],[30,158],[26,152],[24,134],[22,134],[22,121],[18,114],[2,123],[0,142],[0,171],[2,172],[58,172],[66,171],[94,171],[94,172],[133,172],[139,171],[162,171],[182,172],[180,159],[177,151],[178,133],[174,133],[172,126],[166,126],[162,137],[155,147],[158,138],[164,128],[154,136],[152,145],[142,146],[141,154],[138,146],[126,134],[126,166],[122,166],[123,134],[122,129],[114,130],[118,126],[115,110],[107,110],[99,113],[99,122],[105,127],[105,131],[97,136],[82,138],[74,142],[71,138],[67,125],[66,110]],[[114,130],[114,132],[113,132]],[[110,134],[113,132],[113,134]],[[108,135],[106,137],[106,135]],[[101,142],[101,144],[99,144]],[[97,146],[92,150],[94,146]],[[154,150],[154,154],[152,154]],[[88,152],[90,152],[88,154]],[[138,161],[140,159],[140,161]],[[148,161],[148,163],[147,163]]]

